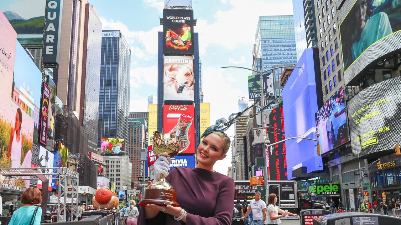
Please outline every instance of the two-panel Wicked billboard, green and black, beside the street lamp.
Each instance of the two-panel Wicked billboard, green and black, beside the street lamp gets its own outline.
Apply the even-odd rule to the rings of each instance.
[[[263,74],[263,87],[265,89],[266,95],[267,94],[274,95],[273,74],[272,73]],[[256,74],[256,75],[252,74],[252,75],[248,76],[248,94],[249,94],[249,99],[260,99],[260,75],[259,74]]]

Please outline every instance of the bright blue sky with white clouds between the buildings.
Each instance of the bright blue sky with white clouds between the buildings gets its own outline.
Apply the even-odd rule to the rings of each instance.
[[[162,31],[164,0],[89,0],[104,30],[119,29],[131,48],[130,112],[147,111],[148,96],[157,96],[157,32]],[[251,71],[221,69],[252,66],[252,48],[259,16],[292,15],[291,0],[197,0],[192,1],[194,32],[199,33],[203,65],[204,102],[210,102],[211,124],[238,112],[238,96],[247,99],[247,75]],[[160,102],[161,103],[161,102]],[[233,126],[226,132],[234,136]],[[213,169],[227,175],[227,157]]]

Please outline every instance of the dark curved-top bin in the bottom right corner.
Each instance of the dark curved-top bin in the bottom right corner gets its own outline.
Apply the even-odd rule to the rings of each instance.
[[[322,225],[401,224],[401,218],[371,213],[334,213],[320,218]]]

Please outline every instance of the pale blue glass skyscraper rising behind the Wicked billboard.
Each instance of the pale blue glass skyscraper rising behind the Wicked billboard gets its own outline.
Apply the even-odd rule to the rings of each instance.
[[[296,64],[294,17],[259,16],[255,44],[256,57],[253,58],[253,65],[259,70]],[[283,69],[276,69],[269,76],[266,93],[281,96],[279,78]]]

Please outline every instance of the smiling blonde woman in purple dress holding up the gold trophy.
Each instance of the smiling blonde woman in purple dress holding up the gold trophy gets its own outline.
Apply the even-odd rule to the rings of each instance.
[[[140,211],[138,225],[229,225],[234,203],[234,181],[213,170],[216,161],[224,159],[230,139],[223,132],[203,134],[196,152],[195,168],[176,167],[168,173],[170,157],[159,157],[155,177],[168,175],[180,207],[148,204]],[[156,169],[162,168],[162,169]],[[156,180],[156,179],[155,179]]]

